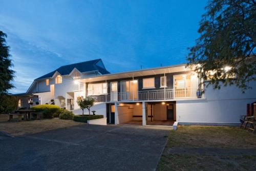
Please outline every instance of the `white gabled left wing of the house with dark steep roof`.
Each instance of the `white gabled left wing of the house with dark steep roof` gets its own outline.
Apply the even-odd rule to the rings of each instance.
[[[38,96],[40,104],[52,104],[68,110],[77,109],[77,96],[84,96],[84,83],[78,82],[81,78],[109,74],[101,59],[90,60],[58,69],[36,78],[27,91],[27,94]]]

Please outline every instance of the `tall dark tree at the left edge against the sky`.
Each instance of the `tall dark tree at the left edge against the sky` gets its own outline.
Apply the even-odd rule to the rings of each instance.
[[[6,37],[7,34],[0,30],[0,94],[7,93],[9,89],[14,87],[11,82],[15,72],[10,69],[13,64],[9,54],[10,47],[6,44]]]

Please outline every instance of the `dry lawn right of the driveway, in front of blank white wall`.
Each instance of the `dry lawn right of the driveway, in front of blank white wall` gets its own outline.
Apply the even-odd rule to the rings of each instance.
[[[256,135],[239,127],[179,126],[171,131],[157,170],[254,170],[256,154],[169,153],[170,148],[256,149]]]

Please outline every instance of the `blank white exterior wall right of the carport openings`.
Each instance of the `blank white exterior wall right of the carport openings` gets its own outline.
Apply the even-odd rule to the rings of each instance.
[[[256,82],[253,89],[245,94],[236,86],[213,90],[208,87],[204,98],[176,101],[176,116],[179,123],[239,123],[241,115],[246,115],[246,104],[256,101]]]

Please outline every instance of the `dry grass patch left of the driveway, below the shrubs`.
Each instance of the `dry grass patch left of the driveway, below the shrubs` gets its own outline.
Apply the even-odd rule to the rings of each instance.
[[[0,131],[4,131],[13,136],[34,134],[63,127],[82,125],[84,123],[73,120],[63,120],[58,118],[41,119],[20,122],[8,122],[8,116],[0,115]]]

